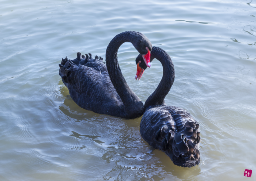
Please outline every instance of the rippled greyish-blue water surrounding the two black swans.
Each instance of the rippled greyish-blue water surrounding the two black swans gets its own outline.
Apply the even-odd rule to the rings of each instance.
[[[0,0],[0,180],[254,180],[256,0]],[[201,162],[174,165],[128,120],[78,107],[58,75],[77,52],[102,56],[123,31],[168,51],[175,82],[165,99],[200,123]],[[131,43],[119,49],[143,102],[162,76],[154,60],[135,81]],[[252,170],[245,178],[245,169]]]

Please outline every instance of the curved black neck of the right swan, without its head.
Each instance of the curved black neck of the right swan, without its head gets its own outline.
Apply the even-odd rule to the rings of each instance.
[[[148,97],[145,102],[145,110],[152,107],[165,105],[164,98],[167,96],[174,82],[175,71],[171,57],[163,49],[153,47],[151,51],[151,60],[156,58],[163,66],[163,77],[156,90]]]

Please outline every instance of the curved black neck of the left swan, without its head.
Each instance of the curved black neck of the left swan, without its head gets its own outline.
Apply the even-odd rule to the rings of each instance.
[[[144,106],[139,97],[130,89],[126,83],[119,67],[117,52],[124,42],[131,42],[133,45],[140,38],[140,34],[134,31],[126,31],[116,35],[106,50],[106,65],[109,77],[120,96],[127,117],[137,118],[143,114]]]

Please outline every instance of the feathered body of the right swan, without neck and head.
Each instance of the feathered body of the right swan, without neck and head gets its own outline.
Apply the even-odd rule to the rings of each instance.
[[[140,132],[149,145],[164,151],[175,165],[199,164],[199,124],[186,110],[174,106],[149,109],[141,119]]]

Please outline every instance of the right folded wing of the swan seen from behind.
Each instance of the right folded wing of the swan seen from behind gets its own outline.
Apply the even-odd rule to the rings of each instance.
[[[198,122],[186,110],[168,106],[176,130],[172,142],[172,161],[175,165],[191,167],[199,164],[200,130]]]

